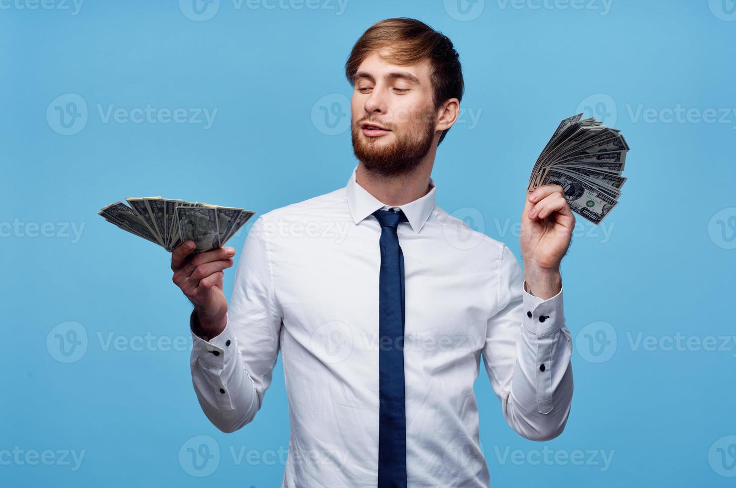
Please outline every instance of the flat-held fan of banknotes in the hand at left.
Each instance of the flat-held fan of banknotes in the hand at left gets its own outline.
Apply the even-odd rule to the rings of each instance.
[[[115,202],[99,211],[107,222],[155,242],[171,252],[194,241],[194,252],[222,247],[254,212],[201,202],[161,197],[127,198],[130,205]]]

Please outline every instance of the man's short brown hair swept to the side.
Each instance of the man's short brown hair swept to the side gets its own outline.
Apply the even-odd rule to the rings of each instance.
[[[381,59],[398,66],[420,63],[427,58],[430,60],[435,110],[447,99],[462,99],[465,84],[460,57],[452,41],[415,18],[387,18],[373,24],[361,35],[345,63],[345,76],[350,85],[355,82],[355,73],[363,60],[383,48],[389,48],[389,54],[381,56]],[[439,136],[438,146],[447,130]]]

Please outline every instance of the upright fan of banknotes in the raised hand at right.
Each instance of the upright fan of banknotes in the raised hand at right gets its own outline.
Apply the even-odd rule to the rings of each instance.
[[[560,185],[573,212],[600,224],[621,196],[629,145],[619,130],[582,116],[560,122],[531,171],[527,189]]]

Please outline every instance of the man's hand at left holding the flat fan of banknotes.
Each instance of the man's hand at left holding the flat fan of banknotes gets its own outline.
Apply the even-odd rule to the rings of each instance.
[[[174,283],[183,291],[199,317],[198,336],[211,339],[227,323],[227,299],[222,293],[224,269],[233,266],[235,249],[222,247],[192,255],[194,241],[186,241],[171,253]]]

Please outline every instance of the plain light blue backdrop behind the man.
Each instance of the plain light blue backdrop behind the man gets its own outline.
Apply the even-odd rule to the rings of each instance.
[[[736,107],[733,1],[547,1],[350,0],[340,11],[222,0],[198,16],[191,0],[88,0],[76,15],[60,0],[4,0],[0,485],[279,486],[280,361],[250,425],[210,425],[169,255],[96,212],[161,194],[260,214],[345,185],[355,160],[344,61],[375,21],[409,16],[448,35],[464,66],[468,111],[439,147],[437,203],[517,255],[529,171],[560,119],[592,107],[631,146],[620,205],[601,227],[578,217],[563,262],[576,388],[562,436],[512,431],[481,368],[492,486],[734,486],[736,345],[721,336],[734,330],[736,115],[703,120]],[[70,93],[87,121],[63,135],[55,107]],[[217,112],[206,129],[104,119],[110,106],[146,105]],[[676,107],[690,120],[670,122]],[[229,243],[238,253],[248,228]],[[69,363],[57,343],[73,338],[66,330],[87,337]],[[136,347],[146,335],[185,344]],[[678,335],[684,347],[670,342]],[[205,477],[179,456],[197,436],[220,452]],[[1,453],[14,449],[19,460]],[[231,449],[253,450],[251,461]],[[51,465],[24,457],[44,450]],[[63,450],[85,452],[79,469]]]

